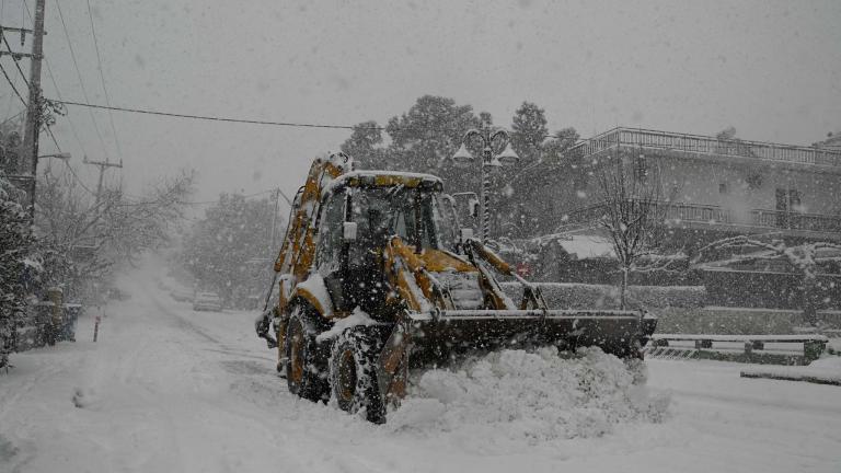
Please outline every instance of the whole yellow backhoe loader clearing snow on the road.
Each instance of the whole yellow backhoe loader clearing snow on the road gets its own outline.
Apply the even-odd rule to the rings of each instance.
[[[552,344],[642,357],[656,318],[549,309],[539,288],[458,229],[448,203],[433,175],[355,171],[344,153],[313,162],[275,262],[277,300],[256,321],[293,394],[333,396],[383,423],[410,368],[464,354]],[[518,303],[498,276],[521,284]]]

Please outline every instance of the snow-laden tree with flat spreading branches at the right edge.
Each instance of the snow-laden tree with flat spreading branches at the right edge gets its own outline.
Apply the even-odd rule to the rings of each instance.
[[[751,253],[730,255],[726,259],[728,264],[760,261],[784,261],[788,263],[800,277],[804,320],[811,325],[817,324],[818,303],[815,290],[817,288],[818,265],[832,262],[841,263],[840,244],[811,242],[790,246],[783,240],[772,240],[769,242],[749,235],[737,235],[714,241],[700,249],[692,259],[692,264],[699,265],[708,257],[710,253],[721,250],[754,250]]]

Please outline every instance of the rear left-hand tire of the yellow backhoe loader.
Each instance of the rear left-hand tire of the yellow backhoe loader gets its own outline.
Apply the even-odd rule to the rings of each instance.
[[[329,350],[319,346],[303,308],[296,307],[286,328],[286,383],[289,392],[306,400],[327,402]]]

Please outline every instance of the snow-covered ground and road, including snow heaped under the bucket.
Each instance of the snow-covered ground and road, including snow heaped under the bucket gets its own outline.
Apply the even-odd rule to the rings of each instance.
[[[193,312],[123,278],[100,341],[18,354],[0,374],[0,472],[839,472],[841,388],[598,353],[505,351],[418,378],[375,426],[298,400],[252,313]]]

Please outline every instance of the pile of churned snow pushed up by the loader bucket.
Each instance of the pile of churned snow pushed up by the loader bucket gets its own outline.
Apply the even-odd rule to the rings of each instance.
[[[575,358],[562,358],[555,347],[497,351],[420,374],[389,426],[433,435],[494,432],[531,445],[598,437],[619,424],[663,419],[669,397],[638,382],[644,369],[629,369],[598,348]]]

